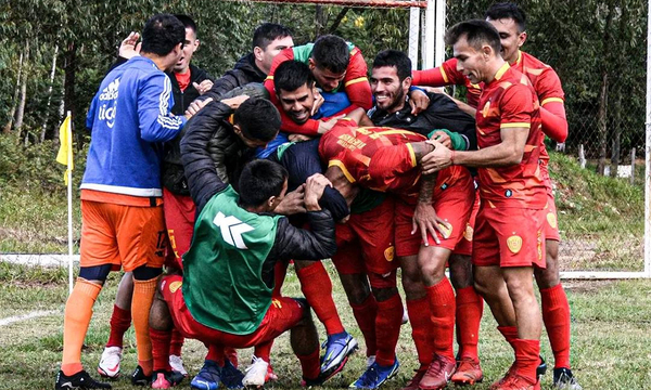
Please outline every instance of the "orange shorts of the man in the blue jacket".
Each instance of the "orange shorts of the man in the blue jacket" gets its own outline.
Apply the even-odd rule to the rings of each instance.
[[[162,268],[167,234],[163,206],[139,207],[81,199],[80,265],[125,271]]]

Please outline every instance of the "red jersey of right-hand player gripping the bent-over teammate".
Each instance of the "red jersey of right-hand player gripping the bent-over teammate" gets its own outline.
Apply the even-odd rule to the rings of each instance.
[[[542,139],[540,107],[526,76],[505,64],[484,86],[476,114],[477,145],[501,143],[503,128],[526,128],[522,161],[508,167],[477,168],[480,194],[489,206],[542,209],[547,204],[538,158]]]

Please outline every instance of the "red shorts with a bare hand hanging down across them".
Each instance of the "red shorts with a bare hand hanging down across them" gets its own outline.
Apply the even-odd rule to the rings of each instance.
[[[441,244],[436,244],[434,237],[427,234],[430,246],[437,246],[454,250],[457,243],[463,237],[465,225],[472,211],[474,202],[474,185],[470,173],[463,174],[455,180],[452,185],[437,187],[434,192],[434,210],[436,214],[449,224],[447,234],[443,236],[437,233]],[[401,198],[396,200],[396,255],[399,257],[418,255],[423,244],[420,232],[411,234],[412,218],[416,209],[414,198]]]

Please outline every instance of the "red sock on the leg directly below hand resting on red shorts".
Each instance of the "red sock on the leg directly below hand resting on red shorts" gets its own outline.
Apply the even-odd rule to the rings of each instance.
[[[455,290],[447,277],[434,286],[426,287],[432,313],[434,352],[455,360]]]

